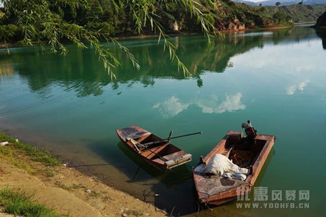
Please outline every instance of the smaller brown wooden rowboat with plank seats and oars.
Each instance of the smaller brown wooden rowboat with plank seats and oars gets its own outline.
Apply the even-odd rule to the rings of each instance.
[[[138,126],[117,129],[120,140],[155,168],[166,171],[192,160],[192,155]]]

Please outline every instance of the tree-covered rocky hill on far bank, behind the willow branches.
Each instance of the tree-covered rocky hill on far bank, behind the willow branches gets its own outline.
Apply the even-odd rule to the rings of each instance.
[[[117,37],[139,35],[129,11],[119,11],[117,14],[111,0],[93,0],[93,2],[94,4],[87,10],[71,8],[69,4],[64,6],[53,4],[50,8],[66,22],[75,23],[90,30],[100,30],[101,33],[105,32],[110,36]],[[274,14],[266,14],[259,7],[234,3],[231,0],[215,0],[214,5],[209,4],[206,0],[199,2],[202,4],[199,9],[205,18],[220,31],[238,31],[291,24],[287,16],[276,17],[273,16]],[[0,10],[5,12],[3,8]],[[201,32],[201,25],[197,23],[196,19],[178,5],[171,7],[168,12],[167,10],[160,10],[158,14],[159,18],[157,19],[167,33]],[[23,23],[17,22],[17,20],[15,15],[3,16],[0,12],[0,42],[21,40],[21,29],[23,28],[21,25]],[[69,28],[73,27],[70,26]],[[140,34],[153,34],[149,23],[142,28]]]

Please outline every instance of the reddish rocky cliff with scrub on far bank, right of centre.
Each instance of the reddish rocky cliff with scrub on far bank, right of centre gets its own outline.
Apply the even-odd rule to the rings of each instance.
[[[234,3],[232,0],[214,0],[214,6],[199,0],[199,9],[219,31],[243,31],[245,29],[277,26],[279,21],[267,15],[259,7]],[[168,23],[172,32],[200,32],[200,25],[189,14],[176,9],[172,11]],[[284,25],[284,23],[282,23]],[[287,23],[286,23],[287,24]],[[288,21],[291,25],[291,21]]]

